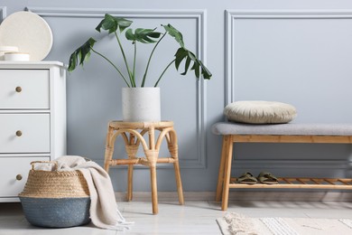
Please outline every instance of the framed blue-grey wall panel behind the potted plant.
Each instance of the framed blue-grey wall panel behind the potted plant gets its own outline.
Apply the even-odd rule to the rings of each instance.
[[[53,28],[57,28],[54,32],[55,43],[53,46],[53,53],[55,58],[62,58],[63,61],[68,61],[69,52],[62,50],[64,47],[72,48],[70,52],[73,52],[75,47],[85,42],[88,39],[88,32],[94,33],[94,28],[104,17],[105,13],[118,15],[121,17],[126,17],[134,21],[134,27],[148,27],[153,28],[155,26],[160,26],[160,24],[172,24],[178,29],[182,29],[181,32],[185,34],[186,46],[194,52],[198,52],[199,58],[203,61],[206,59],[206,48],[205,48],[205,28],[206,28],[206,11],[205,10],[115,10],[115,9],[62,9],[62,8],[35,8],[28,7],[30,11],[36,14],[40,14]],[[60,25],[70,25],[69,27],[60,28]],[[93,26],[94,25],[94,26]],[[162,30],[159,27],[159,30]],[[81,32],[81,33],[78,33]],[[87,33],[86,33],[87,32]],[[187,36],[186,36],[187,35]],[[74,37],[74,38],[72,38]],[[97,37],[101,37],[97,35]],[[133,46],[130,42],[122,40],[125,48],[130,48],[129,52],[132,52]],[[116,58],[119,55],[119,62],[122,64],[121,54],[118,51],[117,43],[115,38],[104,39],[103,43],[97,45],[98,52],[102,52],[108,58]],[[140,73],[140,77],[143,75],[143,70],[148,59],[148,55],[153,49],[153,45],[138,45],[138,60],[137,60],[137,73]],[[165,68],[168,61],[173,60],[173,54],[178,49],[178,45],[173,39],[165,38],[162,43],[160,43],[150,68],[149,81],[147,81],[147,86],[152,86],[153,82],[158,78],[159,74],[162,72],[161,68]],[[170,51],[169,54],[163,53]],[[132,53],[128,53],[127,58],[131,58]],[[85,80],[91,80],[94,82],[94,86],[88,92],[84,92],[87,97],[87,104],[89,107],[92,105],[97,106],[91,108],[92,112],[97,112],[97,118],[106,117],[109,119],[119,119],[121,118],[121,107],[120,97],[121,90],[119,88],[124,87],[125,84],[121,82],[120,78],[117,78],[117,74],[106,74],[99,75],[102,71],[111,71],[107,68],[101,58],[96,58],[96,54],[92,54],[91,61],[88,61],[84,71],[74,71],[69,73],[68,84],[69,89],[80,89],[83,87],[81,84]],[[51,59],[49,56],[48,60]],[[54,60],[54,58],[52,58]],[[131,61],[131,60],[130,60]],[[206,61],[205,61],[206,62]],[[140,68],[140,69],[138,69]],[[124,69],[124,67],[123,67]],[[173,68],[172,68],[173,69]],[[161,81],[162,87],[162,118],[171,119],[175,122],[175,127],[179,135],[179,145],[183,146],[180,149],[180,164],[183,168],[204,168],[206,164],[206,151],[205,151],[205,88],[203,80],[195,80],[191,75],[187,78],[181,77],[175,70],[166,73],[165,78]],[[101,77],[97,80],[97,77]],[[117,80],[116,87],[111,87],[111,84],[107,83],[107,87],[101,87],[102,80],[105,77],[111,77]],[[77,80],[77,81],[76,81]],[[139,80],[140,82],[141,80]],[[78,82],[78,83],[76,83]],[[79,84],[80,83],[80,84]],[[184,83],[187,83],[185,87]],[[72,84],[70,86],[70,84]],[[96,90],[95,90],[96,89]],[[87,90],[87,89],[86,89]],[[99,98],[97,96],[91,96],[94,93],[100,91],[106,91],[108,97]],[[174,92],[175,91],[175,92]],[[70,99],[68,104],[69,113],[74,117],[79,117],[80,113],[84,111],[79,110],[79,108],[85,109],[87,112],[88,105],[79,104],[79,98],[75,90],[71,91],[75,96]],[[69,92],[69,93],[71,93]],[[174,92],[174,94],[172,94]],[[182,96],[181,93],[191,94],[190,96]],[[175,103],[175,98],[178,102],[181,102],[182,106]],[[98,102],[97,102],[98,100]],[[107,101],[104,101],[107,100]],[[114,114],[107,116],[109,111],[114,110]],[[184,117],[178,115],[180,113],[187,112],[188,119],[187,122],[184,121]],[[90,116],[92,117],[92,116]],[[98,127],[94,130],[94,126],[86,127],[87,118],[81,117],[82,121],[69,121],[71,125],[69,126],[69,152],[78,153],[80,155],[84,154],[92,159],[102,160],[101,148],[102,140],[104,139],[106,129]],[[106,126],[107,124],[105,124]],[[104,127],[105,127],[104,126]],[[100,135],[90,136],[90,133],[99,133]],[[80,136],[80,137],[79,137]],[[95,143],[99,143],[94,146],[88,146],[86,151],[81,151],[79,146],[84,146],[84,142],[88,142],[88,138],[96,138]],[[120,141],[121,142],[121,141]],[[100,152],[98,152],[98,151]],[[163,147],[161,155],[167,155],[167,147]],[[116,144],[116,156],[125,155],[125,150],[119,142]]]

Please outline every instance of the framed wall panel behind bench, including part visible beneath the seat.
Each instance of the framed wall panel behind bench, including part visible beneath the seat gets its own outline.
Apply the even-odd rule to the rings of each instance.
[[[226,25],[227,103],[282,101],[297,108],[295,122],[351,122],[352,12],[228,10]],[[236,172],[311,175],[329,165],[331,177],[350,174],[347,145],[246,144],[235,156]]]

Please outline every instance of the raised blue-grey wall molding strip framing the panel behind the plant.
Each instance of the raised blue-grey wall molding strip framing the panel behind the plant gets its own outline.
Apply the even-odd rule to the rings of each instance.
[[[162,9],[109,9],[109,8],[47,8],[26,7],[27,11],[39,14],[42,17],[80,17],[102,18],[106,13],[121,17],[134,18],[161,18],[161,19],[194,19],[197,22],[197,54],[204,64],[207,64],[207,11],[199,10],[162,10]],[[206,168],[206,125],[207,125],[207,84],[204,80],[197,83],[197,156],[192,159],[180,158],[182,168]]]

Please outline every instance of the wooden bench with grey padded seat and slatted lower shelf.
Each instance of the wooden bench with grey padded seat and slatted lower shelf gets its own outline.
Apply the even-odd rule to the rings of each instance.
[[[278,184],[236,183],[232,178],[231,164],[235,143],[329,143],[351,144],[352,125],[334,124],[275,124],[250,125],[220,122],[212,132],[223,136],[221,160],[218,171],[216,200],[222,197],[221,210],[227,210],[230,188],[300,188],[352,190],[352,179],[341,178],[279,178]]]

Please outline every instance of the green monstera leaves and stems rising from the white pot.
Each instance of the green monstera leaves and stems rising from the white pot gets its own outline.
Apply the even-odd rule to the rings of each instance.
[[[137,28],[133,30],[130,28],[133,22],[124,18],[115,17],[111,14],[105,14],[104,19],[97,25],[96,30],[97,32],[101,33],[102,31],[107,31],[108,34],[114,33],[116,37],[116,42],[119,47],[119,51],[121,52],[120,56],[122,56],[124,63],[125,63],[125,70],[124,74],[122,72],[122,68],[119,68],[113,61],[107,58],[101,52],[97,52],[94,49],[94,45],[96,44],[97,40],[94,38],[89,38],[87,42],[81,45],[75,52],[73,52],[69,57],[69,71],[74,71],[78,65],[84,65],[84,62],[88,60],[91,52],[96,53],[103,59],[105,59],[108,63],[110,63],[114,69],[117,71],[118,75],[125,81],[125,84],[129,88],[135,87],[144,87],[145,81],[147,80],[148,69],[149,65],[153,58],[153,53],[155,52],[156,48],[158,47],[159,43],[162,42],[162,39],[166,35],[170,35],[172,38],[175,39],[176,42],[180,44],[180,48],[174,52],[174,59],[169,63],[166,63],[164,69],[161,70],[161,74],[158,79],[156,79],[154,83],[154,87],[157,87],[160,80],[172,64],[175,65],[176,70],[179,70],[181,66],[181,62],[184,61],[184,71],[181,75],[187,74],[188,71],[194,71],[195,76],[199,79],[202,76],[204,79],[209,80],[211,78],[211,73],[208,71],[207,67],[200,61],[197,56],[190,52],[185,47],[183,42],[182,34],[175,29],[171,24],[162,25],[164,32],[160,33],[154,29],[144,29],[144,28]],[[121,35],[125,32],[125,39],[131,41],[133,44],[133,60],[128,61],[126,57],[126,51],[121,43]],[[146,66],[144,69],[144,76],[141,78],[140,85],[137,85],[136,80],[136,68],[135,68],[135,61],[137,57],[137,42],[141,43],[153,43],[153,50],[150,53],[148,61],[146,61]],[[191,65],[191,67],[190,67]]]

